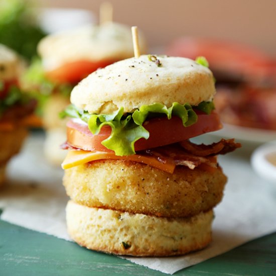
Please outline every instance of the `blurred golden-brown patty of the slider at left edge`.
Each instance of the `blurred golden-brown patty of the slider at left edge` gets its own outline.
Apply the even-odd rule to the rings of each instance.
[[[8,161],[20,151],[27,133],[27,129],[20,126],[12,131],[0,131],[0,185],[4,183]]]

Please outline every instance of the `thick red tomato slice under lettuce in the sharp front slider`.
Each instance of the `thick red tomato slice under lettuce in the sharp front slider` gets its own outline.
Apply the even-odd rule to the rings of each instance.
[[[219,115],[216,112],[209,115],[197,112],[197,115],[197,122],[187,127],[183,126],[182,120],[177,116],[173,116],[170,120],[161,117],[145,121],[143,126],[150,132],[150,137],[148,140],[143,138],[136,141],[135,151],[170,145],[222,128]],[[67,143],[85,151],[113,152],[101,145],[101,142],[107,139],[110,133],[110,126],[102,127],[99,134],[94,135],[86,124],[73,120],[67,123]]]

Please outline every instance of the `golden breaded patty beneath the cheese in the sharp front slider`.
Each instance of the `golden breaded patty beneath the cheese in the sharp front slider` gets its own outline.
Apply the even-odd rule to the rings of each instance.
[[[100,160],[65,170],[68,196],[89,207],[187,217],[212,209],[220,202],[226,176],[177,166],[169,174],[148,165]]]

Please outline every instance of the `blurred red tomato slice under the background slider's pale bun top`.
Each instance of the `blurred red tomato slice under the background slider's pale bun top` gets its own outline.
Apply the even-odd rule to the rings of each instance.
[[[103,68],[115,61],[89,61],[78,60],[61,65],[60,67],[47,71],[46,76],[59,83],[77,83],[98,68]]]

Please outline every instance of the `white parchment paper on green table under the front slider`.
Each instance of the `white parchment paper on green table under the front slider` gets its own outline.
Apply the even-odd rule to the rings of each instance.
[[[8,183],[0,192],[0,208],[4,209],[1,219],[70,240],[63,171],[47,164],[43,140],[42,133],[32,134],[22,153],[10,162]],[[172,274],[276,231],[276,184],[259,178],[242,152],[220,157],[220,164],[229,180],[223,201],[215,208],[212,243],[186,256],[126,259]]]

